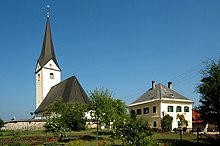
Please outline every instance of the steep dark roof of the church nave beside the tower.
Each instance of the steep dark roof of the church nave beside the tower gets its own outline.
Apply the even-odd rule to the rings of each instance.
[[[43,112],[57,98],[62,98],[65,103],[91,103],[77,78],[72,76],[50,89],[47,96],[36,109],[35,114]]]

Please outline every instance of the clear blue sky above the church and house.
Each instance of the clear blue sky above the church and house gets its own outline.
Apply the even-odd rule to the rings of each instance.
[[[151,81],[199,104],[203,62],[220,57],[219,0],[1,0],[0,118],[31,118],[47,4],[62,80],[127,105]],[[89,95],[89,94],[88,94]]]

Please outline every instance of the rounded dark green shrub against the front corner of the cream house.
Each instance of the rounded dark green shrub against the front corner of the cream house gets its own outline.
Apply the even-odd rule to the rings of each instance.
[[[161,120],[161,127],[164,132],[172,130],[173,117],[165,115]]]

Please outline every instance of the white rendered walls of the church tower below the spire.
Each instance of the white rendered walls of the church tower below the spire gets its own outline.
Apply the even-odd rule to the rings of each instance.
[[[50,78],[53,73],[54,78]],[[40,78],[38,77],[40,75]],[[51,59],[41,70],[36,73],[36,109],[41,104],[51,87],[61,82],[61,71]]]

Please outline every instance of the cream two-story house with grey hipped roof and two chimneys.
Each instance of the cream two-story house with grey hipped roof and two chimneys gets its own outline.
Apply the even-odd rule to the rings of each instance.
[[[172,82],[168,86],[155,84],[129,105],[138,118],[146,119],[152,128],[161,129],[161,119],[169,114],[173,117],[172,129],[180,126],[177,115],[184,115],[187,128],[192,128],[192,104],[193,101],[175,92],[172,89]]]

